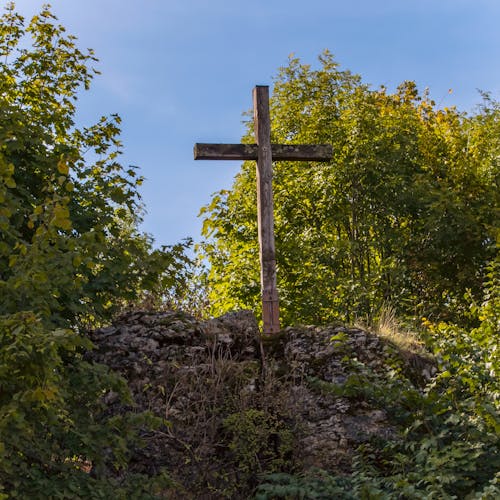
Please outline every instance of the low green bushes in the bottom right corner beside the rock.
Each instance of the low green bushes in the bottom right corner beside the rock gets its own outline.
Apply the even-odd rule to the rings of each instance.
[[[484,301],[472,307],[477,328],[427,325],[438,372],[422,390],[398,370],[380,375],[362,364],[341,387],[311,382],[384,408],[400,429],[395,439],[360,447],[350,477],[335,471],[269,475],[256,498],[498,498],[499,271],[500,263],[489,266]]]

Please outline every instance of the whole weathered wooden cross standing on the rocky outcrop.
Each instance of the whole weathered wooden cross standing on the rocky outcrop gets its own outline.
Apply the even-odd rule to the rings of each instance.
[[[260,248],[263,333],[279,332],[278,289],[273,220],[273,160],[329,161],[332,147],[325,144],[272,144],[269,87],[253,89],[255,140],[257,144],[200,144],[195,160],[257,160],[257,216]]]

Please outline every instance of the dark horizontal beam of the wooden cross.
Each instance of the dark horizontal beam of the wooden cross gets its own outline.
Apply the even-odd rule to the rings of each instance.
[[[333,148],[330,144],[272,144],[273,160],[330,161]],[[257,160],[257,144],[205,144],[194,145],[195,160]]]

